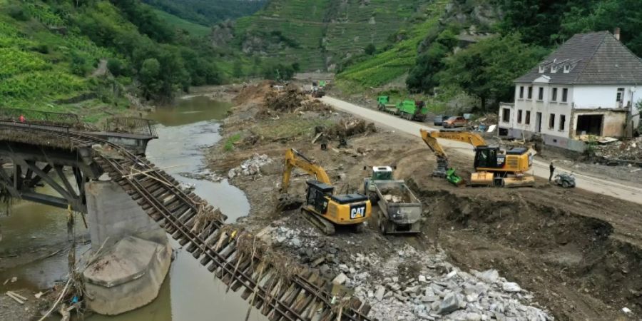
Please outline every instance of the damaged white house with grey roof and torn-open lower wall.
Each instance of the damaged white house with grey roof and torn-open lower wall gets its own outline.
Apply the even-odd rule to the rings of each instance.
[[[619,31],[576,34],[517,78],[515,102],[500,104],[500,134],[537,133],[547,145],[584,151],[579,136],[622,137],[637,128],[642,59],[618,39]]]

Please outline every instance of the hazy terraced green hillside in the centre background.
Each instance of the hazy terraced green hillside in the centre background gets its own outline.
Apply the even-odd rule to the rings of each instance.
[[[337,62],[367,44],[383,46],[388,36],[409,24],[419,2],[371,0],[362,6],[360,1],[274,0],[253,16],[238,19],[236,33],[280,31],[300,48],[273,49],[268,55],[299,61],[303,70],[323,69],[327,57]]]

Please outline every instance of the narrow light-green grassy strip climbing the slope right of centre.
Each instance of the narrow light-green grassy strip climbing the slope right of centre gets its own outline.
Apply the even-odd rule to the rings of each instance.
[[[444,12],[449,0],[437,0],[427,6],[427,19],[412,26],[408,38],[395,44],[392,49],[355,63],[337,76],[337,85],[347,92],[362,91],[367,87],[382,86],[403,76],[414,65],[417,46],[426,37]]]

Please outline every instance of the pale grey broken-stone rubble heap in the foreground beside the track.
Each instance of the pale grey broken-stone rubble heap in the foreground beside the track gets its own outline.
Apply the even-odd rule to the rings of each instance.
[[[313,228],[271,227],[272,244],[372,305],[378,320],[554,320],[533,295],[496,270],[464,272],[443,251],[419,252],[410,245],[388,258],[374,251],[346,253]],[[349,242],[350,243],[350,242]]]

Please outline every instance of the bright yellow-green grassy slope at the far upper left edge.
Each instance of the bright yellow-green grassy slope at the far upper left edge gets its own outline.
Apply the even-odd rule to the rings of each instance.
[[[16,21],[4,9],[0,11],[0,105],[56,109],[53,101],[91,90],[93,85],[86,78],[69,71],[68,56],[78,51],[98,61],[110,56],[108,51],[81,36],[50,32],[46,24],[63,23],[47,6],[29,6],[29,21]]]

